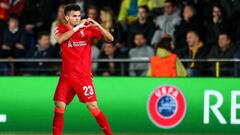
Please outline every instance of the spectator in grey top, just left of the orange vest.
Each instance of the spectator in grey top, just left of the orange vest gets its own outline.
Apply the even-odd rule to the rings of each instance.
[[[135,48],[130,49],[129,58],[150,58],[154,55],[154,50],[149,45],[146,45],[146,39],[144,34],[138,32],[134,36]],[[129,75],[130,76],[145,76],[148,63],[130,63],[129,65]]]

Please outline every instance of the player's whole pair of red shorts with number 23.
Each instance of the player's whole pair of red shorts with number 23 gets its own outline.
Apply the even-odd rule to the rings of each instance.
[[[65,79],[60,77],[54,94],[54,100],[63,101],[69,104],[75,94],[77,94],[81,102],[96,101],[96,93],[92,78]]]

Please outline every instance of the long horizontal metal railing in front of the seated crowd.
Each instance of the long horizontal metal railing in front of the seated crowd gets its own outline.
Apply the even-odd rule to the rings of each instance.
[[[61,59],[0,59],[0,64],[4,62],[8,63],[28,63],[28,62],[50,62],[50,63],[60,63]],[[100,63],[100,62],[119,62],[121,63],[120,72],[121,75],[124,76],[126,71],[126,65],[125,63],[149,63],[150,59],[147,57],[142,58],[132,58],[132,59],[93,59],[93,63]],[[220,77],[220,62],[231,62],[234,63],[234,66],[232,67],[234,76],[239,76],[240,74],[240,59],[233,58],[233,59],[181,59],[181,62],[183,63],[190,63],[190,62],[207,62],[207,63],[215,63],[215,76]],[[11,70],[14,72],[14,64],[11,64]],[[36,70],[36,69],[35,69]],[[42,70],[42,69],[41,69]],[[55,71],[58,69],[46,69],[49,71]],[[209,69],[203,69],[203,70],[209,70]],[[228,69],[229,70],[229,69]],[[1,66],[0,66],[1,71]]]

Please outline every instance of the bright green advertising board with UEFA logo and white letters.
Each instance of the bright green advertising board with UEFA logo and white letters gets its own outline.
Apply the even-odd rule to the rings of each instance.
[[[0,77],[1,131],[49,131],[57,77]],[[239,78],[96,77],[114,132],[240,134]],[[157,114],[157,115],[154,115]],[[75,96],[66,132],[100,132]]]

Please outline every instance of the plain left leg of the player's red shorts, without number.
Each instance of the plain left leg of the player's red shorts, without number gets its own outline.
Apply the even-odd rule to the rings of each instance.
[[[75,91],[73,90],[73,86],[70,82],[59,79],[57,89],[54,94],[55,101],[62,101],[65,104],[69,104],[75,95]]]

